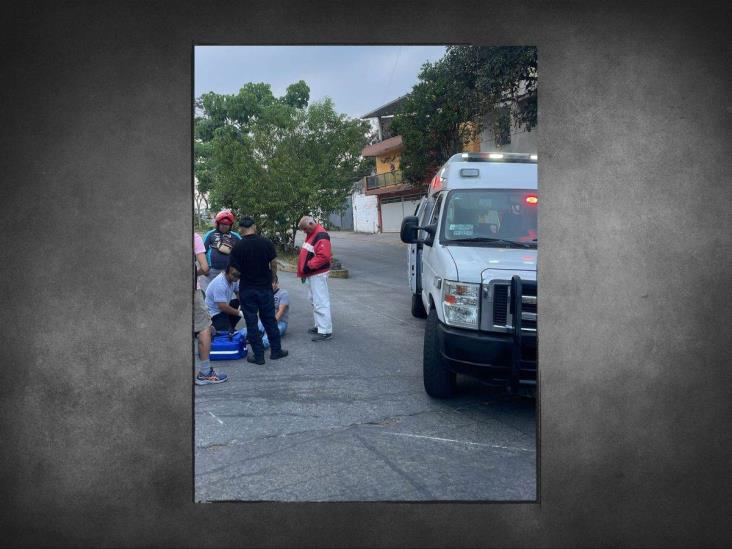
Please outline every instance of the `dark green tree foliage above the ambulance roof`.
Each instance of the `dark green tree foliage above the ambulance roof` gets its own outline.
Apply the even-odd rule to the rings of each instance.
[[[510,126],[536,126],[536,48],[450,46],[425,63],[419,82],[392,122],[405,149],[405,179],[421,184],[447,159],[476,138],[486,121],[498,143]]]

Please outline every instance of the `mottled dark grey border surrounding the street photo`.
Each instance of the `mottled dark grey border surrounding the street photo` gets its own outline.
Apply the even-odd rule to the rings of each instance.
[[[732,544],[728,6],[5,13],[5,545]],[[541,504],[194,505],[191,45],[460,41],[539,51]]]

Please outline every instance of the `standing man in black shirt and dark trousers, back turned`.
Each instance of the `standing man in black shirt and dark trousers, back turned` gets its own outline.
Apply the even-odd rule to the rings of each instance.
[[[287,356],[280,342],[272,291],[272,280],[277,274],[277,252],[271,240],[257,234],[257,226],[251,217],[244,216],[239,220],[239,233],[242,238],[234,244],[229,262],[241,273],[239,301],[253,355],[247,356],[247,361],[264,364],[264,345],[257,329],[257,315],[272,348],[269,358],[277,360]]]

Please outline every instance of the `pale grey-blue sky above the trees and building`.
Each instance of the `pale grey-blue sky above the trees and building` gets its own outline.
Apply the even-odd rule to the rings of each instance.
[[[247,82],[266,82],[280,97],[304,80],[310,102],[330,97],[351,118],[409,93],[420,67],[445,46],[196,46],[196,97],[235,94]]]

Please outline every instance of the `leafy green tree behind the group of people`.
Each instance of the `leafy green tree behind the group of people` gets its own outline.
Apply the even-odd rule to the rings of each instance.
[[[208,93],[196,105],[195,173],[215,209],[251,215],[276,244],[294,243],[303,215],[339,210],[369,171],[360,153],[367,122],[351,120],[325,99],[309,104],[302,80],[276,98],[268,84],[236,95]]]

